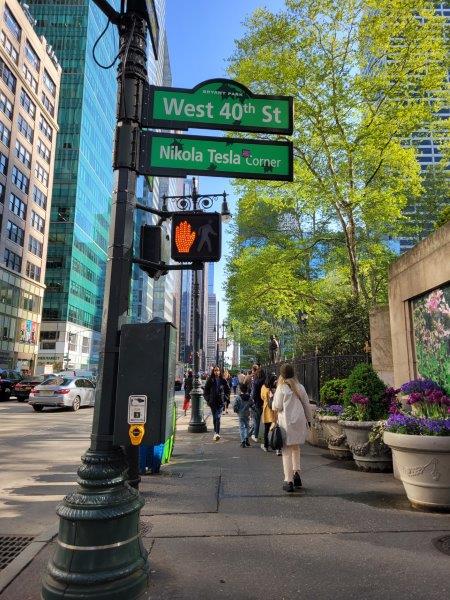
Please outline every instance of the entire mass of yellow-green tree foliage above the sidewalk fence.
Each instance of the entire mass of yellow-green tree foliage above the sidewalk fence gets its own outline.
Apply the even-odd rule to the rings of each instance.
[[[308,348],[361,348],[368,310],[387,297],[385,239],[406,231],[402,211],[428,185],[404,141],[432,131],[447,164],[448,123],[433,113],[447,101],[444,19],[426,0],[287,0],[248,19],[229,74],[295,102],[295,181],[236,184],[230,312],[258,348],[286,323]],[[352,297],[361,334],[340,327],[342,342],[327,343],[333,307]]]

